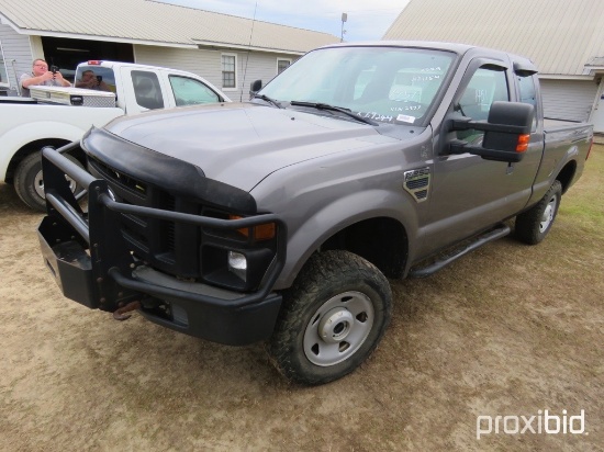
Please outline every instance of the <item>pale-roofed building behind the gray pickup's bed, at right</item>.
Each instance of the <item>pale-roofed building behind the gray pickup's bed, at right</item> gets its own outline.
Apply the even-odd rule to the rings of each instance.
[[[604,132],[604,1],[411,0],[384,39],[497,48],[539,68],[545,115]]]

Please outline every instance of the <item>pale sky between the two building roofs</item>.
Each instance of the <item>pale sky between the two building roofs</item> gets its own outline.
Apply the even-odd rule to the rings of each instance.
[[[161,0],[166,3],[238,15],[342,36],[344,41],[381,39],[410,0]]]

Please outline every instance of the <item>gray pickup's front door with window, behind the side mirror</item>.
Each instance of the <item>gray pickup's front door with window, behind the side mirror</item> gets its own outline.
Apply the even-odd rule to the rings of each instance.
[[[449,116],[485,121],[493,102],[518,98],[513,77],[514,72],[500,61],[477,58],[454,97]],[[426,253],[514,215],[530,196],[543,143],[543,133],[537,133],[536,124],[530,150],[518,163],[484,160],[468,152],[451,155],[448,150],[455,139],[481,145],[483,135],[473,129],[443,135],[446,138],[440,140],[434,167],[430,219],[424,241]]]

